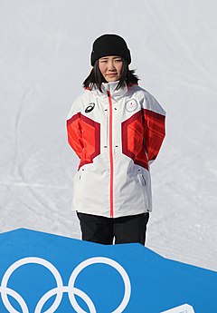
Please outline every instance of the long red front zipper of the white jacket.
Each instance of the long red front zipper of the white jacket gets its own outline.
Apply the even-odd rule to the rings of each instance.
[[[112,101],[110,92],[109,98],[109,161],[110,161],[110,217],[114,217],[114,160],[113,160],[113,144],[112,144]]]

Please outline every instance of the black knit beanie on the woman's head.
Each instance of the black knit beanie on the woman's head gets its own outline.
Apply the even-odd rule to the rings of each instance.
[[[117,55],[131,63],[130,51],[125,40],[118,34],[103,34],[95,40],[92,46],[90,63],[93,66],[103,56]]]

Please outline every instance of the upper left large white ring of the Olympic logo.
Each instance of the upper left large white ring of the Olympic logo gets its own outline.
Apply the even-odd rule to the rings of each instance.
[[[10,268],[8,268],[5,271],[5,275],[2,279],[2,291],[1,291],[1,295],[2,295],[2,300],[3,303],[5,305],[5,308],[9,311],[9,312],[13,312],[13,313],[20,313],[19,311],[17,311],[15,308],[12,307],[11,303],[9,302],[9,299],[7,297],[7,292],[6,289],[7,288],[7,282],[8,279],[10,279],[11,275],[13,274],[15,269],[18,269],[19,267],[25,265],[25,264],[29,264],[29,263],[36,263],[39,265],[42,265],[43,267],[45,267],[46,269],[49,269],[52,272],[52,275],[54,276],[54,279],[56,279],[56,283],[57,283],[57,288],[58,288],[58,292],[57,292],[57,297],[55,298],[54,302],[52,303],[51,308],[47,309],[45,312],[43,313],[52,313],[55,310],[53,310],[52,308],[58,308],[60,303],[61,303],[61,298],[62,298],[62,292],[61,289],[63,287],[62,284],[62,280],[61,280],[61,274],[59,273],[59,271],[52,265],[52,263],[50,263],[49,261],[45,260],[45,259],[41,259],[41,258],[24,258],[24,259],[19,259],[16,262],[14,262],[14,264],[12,264],[10,266]],[[60,290],[60,291],[59,291]],[[19,298],[21,299],[21,298]],[[22,298],[23,299],[23,298]],[[21,303],[18,301],[19,305],[21,306]],[[24,304],[23,304],[24,305]],[[26,306],[26,305],[25,305]],[[27,307],[26,307],[27,308]],[[22,308],[23,309],[23,308]],[[27,308],[28,309],[28,308]],[[26,313],[28,312],[28,310],[26,311]]]

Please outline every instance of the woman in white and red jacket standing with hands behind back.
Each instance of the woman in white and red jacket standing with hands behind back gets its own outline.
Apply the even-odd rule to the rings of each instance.
[[[150,163],[165,138],[165,111],[138,86],[125,40],[95,40],[84,92],[72,103],[68,141],[80,158],[73,208],[82,240],[145,244],[152,210]]]

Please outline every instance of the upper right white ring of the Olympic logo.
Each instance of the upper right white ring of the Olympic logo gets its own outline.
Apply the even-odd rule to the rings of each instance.
[[[71,278],[69,280],[69,294],[68,294],[69,298],[70,298],[70,301],[71,301],[72,307],[75,308],[76,312],[87,313],[82,308],[80,308],[80,305],[76,301],[76,298],[74,297],[74,294],[71,291],[74,289],[75,279],[77,279],[78,275],[80,274],[80,271],[82,269],[85,269],[87,266],[89,266],[91,264],[96,264],[96,263],[107,264],[107,265],[111,266],[112,268],[117,269],[118,273],[121,275],[122,279],[124,280],[124,285],[125,285],[125,295],[124,295],[124,298],[122,299],[122,301],[121,301],[120,305],[118,306],[118,308],[116,308],[111,313],[121,313],[121,312],[123,312],[123,310],[127,307],[127,304],[128,304],[129,298],[130,298],[130,294],[131,294],[131,285],[130,285],[130,281],[129,281],[127,272],[115,260],[109,259],[109,258],[104,258],[104,257],[96,257],[96,258],[86,259],[83,262],[81,262],[72,271]],[[90,312],[90,313],[92,313],[92,312]]]

